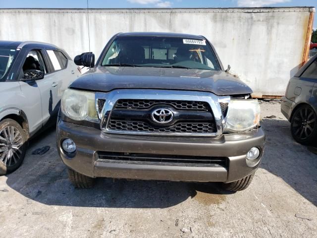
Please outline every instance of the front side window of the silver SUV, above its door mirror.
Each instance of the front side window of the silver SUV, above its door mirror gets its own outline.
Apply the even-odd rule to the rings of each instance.
[[[27,70],[40,70],[47,73],[47,65],[45,64],[42,52],[40,50],[31,50],[26,56],[22,70],[25,73]]]

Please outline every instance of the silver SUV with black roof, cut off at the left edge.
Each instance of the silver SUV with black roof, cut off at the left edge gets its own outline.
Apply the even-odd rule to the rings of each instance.
[[[0,41],[0,175],[16,170],[28,139],[56,122],[63,91],[80,75],[54,45]]]

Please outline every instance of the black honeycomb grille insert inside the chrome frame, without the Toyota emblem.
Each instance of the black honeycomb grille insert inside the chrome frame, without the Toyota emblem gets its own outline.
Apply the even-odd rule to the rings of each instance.
[[[156,110],[172,111],[172,121],[158,123]],[[204,101],[119,99],[114,105],[107,129],[115,132],[155,134],[214,133],[215,120],[209,103]]]

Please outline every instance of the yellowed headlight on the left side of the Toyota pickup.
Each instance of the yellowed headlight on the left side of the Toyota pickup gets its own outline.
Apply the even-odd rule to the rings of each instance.
[[[95,106],[95,93],[66,89],[61,99],[62,113],[73,120],[98,119]]]

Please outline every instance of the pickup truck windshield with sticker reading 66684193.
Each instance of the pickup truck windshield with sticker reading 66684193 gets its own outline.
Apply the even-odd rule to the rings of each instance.
[[[205,40],[153,36],[118,37],[108,48],[102,66],[220,70]]]

